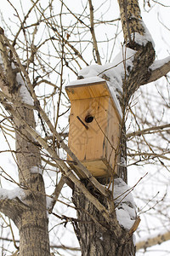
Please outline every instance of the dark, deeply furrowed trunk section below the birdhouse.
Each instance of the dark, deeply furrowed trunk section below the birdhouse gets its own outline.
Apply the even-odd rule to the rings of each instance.
[[[87,181],[83,181],[88,190],[102,202],[105,207],[107,201],[99,195]],[[128,236],[127,231],[117,226],[116,213],[111,213],[110,224],[105,222],[101,213],[96,210],[86,196],[75,188],[73,202],[77,207],[78,224],[75,224],[77,239],[80,242],[82,256],[128,256],[135,255],[133,236]]]

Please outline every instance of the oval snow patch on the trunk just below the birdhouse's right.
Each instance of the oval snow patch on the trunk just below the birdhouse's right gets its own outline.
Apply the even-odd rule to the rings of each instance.
[[[110,188],[112,191],[112,188]],[[136,205],[129,187],[122,178],[114,180],[113,198],[116,204],[116,218],[119,224],[126,230],[133,227],[137,218]]]

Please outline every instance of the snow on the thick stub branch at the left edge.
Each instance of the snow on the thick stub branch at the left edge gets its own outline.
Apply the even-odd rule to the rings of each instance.
[[[20,200],[25,197],[24,189],[20,189],[20,187],[16,189],[0,189],[0,199],[9,199],[12,200],[14,198],[18,197]]]

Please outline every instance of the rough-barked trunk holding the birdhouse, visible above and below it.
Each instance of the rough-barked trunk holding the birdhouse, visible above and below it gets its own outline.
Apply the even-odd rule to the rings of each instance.
[[[136,50],[132,69],[128,70],[128,67],[125,68],[125,75],[122,80],[123,92],[119,98],[123,117],[120,154],[124,160],[127,160],[125,115],[128,102],[131,96],[133,96],[133,93],[139,89],[139,86],[147,83],[146,81],[150,79],[149,67],[155,59],[155,50],[150,40],[146,40],[144,44],[139,44],[139,41],[136,40],[136,35],[139,35],[141,38],[145,35],[145,27],[140,15],[138,1],[118,0],[118,3],[121,11],[125,47]],[[126,166],[120,166],[118,174],[119,177],[122,177],[127,182]],[[110,223],[106,222],[102,218],[101,213],[89,203],[86,195],[83,195],[75,187],[73,202],[77,207],[77,216],[79,219],[79,222],[75,224],[75,230],[77,239],[80,241],[82,255],[135,255],[133,236],[132,234],[131,236],[129,235],[129,230],[122,229],[117,223],[116,212],[113,201],[111,203],[111,198],[106,198],[97,193],[96,189],[89,185],[87,180],[82,181],[82,183],[85,183],[88,191],[110,212],[111,218]]]

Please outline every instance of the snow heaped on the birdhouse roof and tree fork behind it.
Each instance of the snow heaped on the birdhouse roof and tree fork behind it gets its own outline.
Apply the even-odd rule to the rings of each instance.
[[[130,48],[122,47],[122,50],[111,63],[105,65],[91,65],[82,68],[78,75],[83,79],[73,81],[68,85],[90,84],[105,81],[108,84],[111,96],[116,104],[116,108],[122,117],[122,109],[117,98],[122,93],[122,79],[125,73],[129,73],[133,68],[133,56],[136,51]]]

